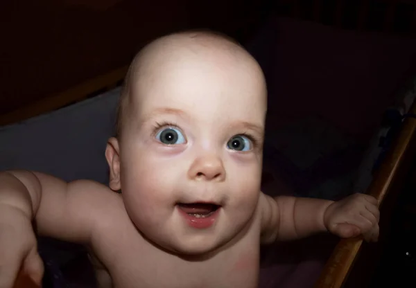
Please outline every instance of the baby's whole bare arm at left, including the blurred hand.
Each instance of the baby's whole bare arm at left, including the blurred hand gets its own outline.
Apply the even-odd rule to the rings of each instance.
[[[12,287],[21,265],[35,282],[42,278],[32,222],[39,235],[90,242],[105,189],[92,181],[65,183],[42,173],[0,172],[0,287]]]

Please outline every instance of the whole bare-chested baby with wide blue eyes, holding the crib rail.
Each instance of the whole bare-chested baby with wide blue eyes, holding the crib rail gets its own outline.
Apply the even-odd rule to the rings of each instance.
[[[322,231],[376,241],[373,197],[260,192],[266,107],[261,68],[232,39],[193,31],[148,44],[107,143],[110,188],[0,173],[0,287],[20,267],[40,282],[35,233],[85,244],[100,287],[119,288],[254,288],[262,243]]]

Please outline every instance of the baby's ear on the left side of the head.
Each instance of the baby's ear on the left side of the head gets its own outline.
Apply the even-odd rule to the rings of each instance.
[[[119,141],[112,137],[108,139],[105,158],[110,168],[110,188],[114,191],[121,189]]]

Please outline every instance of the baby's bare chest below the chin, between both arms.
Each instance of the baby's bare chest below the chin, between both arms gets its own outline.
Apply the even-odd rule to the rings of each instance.
[[[259,273],[259,233],[250,229],[214,257],[189,261],[144,240],[135,229],[113,233],[96,249],[115,288],[254,288]]]

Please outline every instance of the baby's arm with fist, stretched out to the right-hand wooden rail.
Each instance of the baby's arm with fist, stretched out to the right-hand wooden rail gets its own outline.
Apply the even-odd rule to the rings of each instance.
[[[295,240],[330,231],[340,237],[379,235],[379,209],[374,197],[354,194],[340,201],[261,194],[262,241]]]

